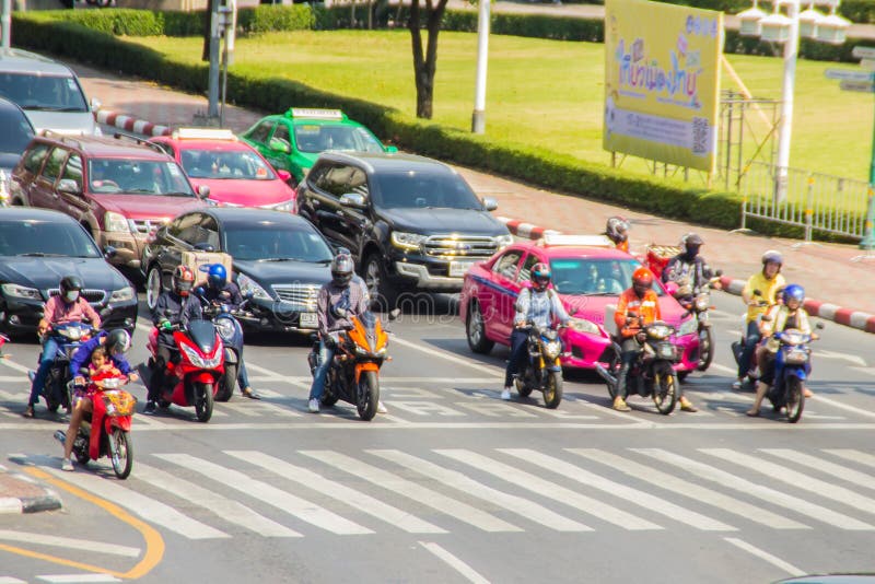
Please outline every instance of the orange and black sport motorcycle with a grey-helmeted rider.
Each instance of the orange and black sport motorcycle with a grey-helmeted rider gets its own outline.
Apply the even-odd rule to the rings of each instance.
[[[380,404],[380,367],[388,359],[388,332],[371,312],[361,316],[343,315],[352,328],[341,332],[328,375],[322,405],[331,407],[342,399],[355,406],[365,422],[376,416]],[[311,373],[319,364],[319,343],[307,355]]]

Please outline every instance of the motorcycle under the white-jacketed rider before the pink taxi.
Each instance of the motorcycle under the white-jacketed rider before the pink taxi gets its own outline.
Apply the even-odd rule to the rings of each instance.
[[[540,328],[528,324],[527,359],[516,375],[514,385],[521,397],[537,389],[544,394],[544,404],[556,409],[562,401],[562,341],[556,328]]]

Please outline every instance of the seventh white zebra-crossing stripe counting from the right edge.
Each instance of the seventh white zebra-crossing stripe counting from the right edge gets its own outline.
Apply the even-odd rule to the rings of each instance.
[[[583,511],[590,515],[598,517],[602,521],[612,523],[625,529],[629,530],[645,530],[645,529],[662,529],[660,525],[651,523],[641,517],[635,517],[631,513],[617,509],[612,505],[606,504],[602,501],[592,499],[582,493],[565,489],[555,482],[544,480],[530,472],[524,472],[516,467],[499,463],[487,458],[486,456],[475,454],[469,451],[463,449],[439,449],[434,451],[454,460],[459,460],[466,465],[470,465],[480,470],[485,470],[491,475],[499,477],[523,489],[533,491],[539,495],[547,495],[552,500],[570,505],[579,511]],[[514,454],[513,451],[501,451],[508,454]]]

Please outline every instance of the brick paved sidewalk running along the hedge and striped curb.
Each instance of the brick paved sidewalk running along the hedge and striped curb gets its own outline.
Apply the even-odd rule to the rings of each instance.
[[[161,87],[155,83],[121,79],[73,65],[89,97],[97,97],[105,109],[131,115],[163,126],[190,125],[198,110],[206,110],[207,98]],[[290,106],[292,104],[289,104]],[[230,106],[226,126],[243,131],[261,117],[256,113]],[[499,200],[498,214],[523,219],[565,233],[596,233],[605,220],[622,214],[632,221],[631,243],[641,250],[649,243],[675,245],[688,231],[697,231],[705,241],[702,248],[709,261],[733,278],[747,278],[760,267],[766,249],[778,249],[785,256],[784,275],[801,283],[810,297],[875,314],[875,258],[854,262],[861,252],[851,245],[807,245],[773,237],[732,234],[700,227],[652,214],[627,211],[597,201],[549,192],[521,183],[460,168],[462,174],[480,196]]]

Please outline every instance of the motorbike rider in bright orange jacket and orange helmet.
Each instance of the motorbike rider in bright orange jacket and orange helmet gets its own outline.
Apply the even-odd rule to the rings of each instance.
[[[614,322],[620,331],[620,372],[617,375],[617,396],[614,398],[614,409],[617,411],[631,411],[626,404],[627,382],[629,371],[632,369],[638,355],[643,350],[646,337],[643,327],[662,318],[660,312],[660,297],[653,291],[653,272],[643,266],[632,273],[632,287],[620,294]],[[681,395],[681,411],[698,411],[696,406]]]

